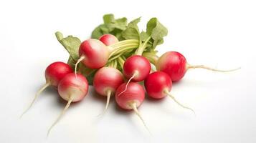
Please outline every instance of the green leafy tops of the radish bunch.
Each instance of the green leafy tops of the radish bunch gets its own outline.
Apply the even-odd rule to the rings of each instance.
[[[137,41],[138,47],[134,47],[135,49],[131,47],[134,42],[133,44],[130,43],[130,46],[120,46],[118,52],[113,54],[113,56],[110,56],[108,66],[114,66],[122,71],[125,59],[133,54],[146,56],[151,63],[157,60],[156,46],[163,43],[163,37],[167,35],[168,30],[158,21],[158,19],[152,18],[147,23],[146,31],[140,31],[138,28],[138,22],[140,21],[141,17],[127,23],[125,17],[115,19],[113,14],[105,14],[103,16],[103,24],[100,24],[93,30],[91,35],[91,38],[93,39],[99,39],[103,34],[113,34],[119,41],[121,41],[120,43],[125,45],[129,45],[128,43],[130,43],[130,41],[134,41],[131,39],[139,41],[139,43]],[[77,59],[79,59],[78,51],[81,44],[80,39],[75,36],[63,37],[60,31],[57,31],[55,35],[57,40],[60,41],[62,46],[64,46],[70,54],[67,63],[74,67]],[[123,40],[127,41],[123,42]],[[87,77],[90,84],[93,84],[93,77],[97,69],[89,69],[80,63],[78,71]]]

